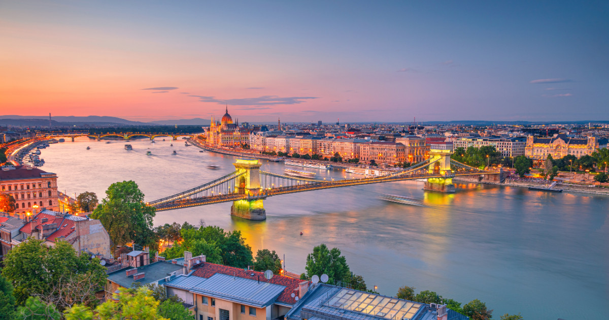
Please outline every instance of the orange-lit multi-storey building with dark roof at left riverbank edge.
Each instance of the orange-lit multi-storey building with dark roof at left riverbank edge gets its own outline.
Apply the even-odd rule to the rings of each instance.
[[[57,174],[32,166],[2,166],[0,193],[15,198],[15,214],[20,218],[26,218],[28,213],[32,215],[36,208],[59,210]]]

